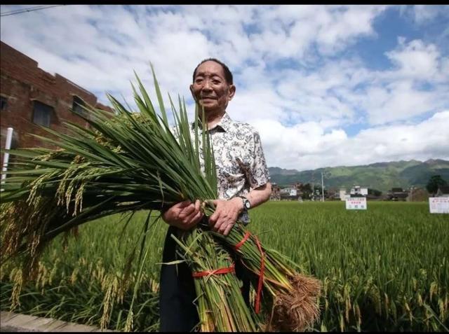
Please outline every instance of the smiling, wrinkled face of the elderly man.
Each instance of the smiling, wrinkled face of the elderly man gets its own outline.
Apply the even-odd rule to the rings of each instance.
[[[225,71],[217,62],[203,62],[198,69],[190,90],[204,111],[222,112],[234,97],[236,88],[225,79]]]

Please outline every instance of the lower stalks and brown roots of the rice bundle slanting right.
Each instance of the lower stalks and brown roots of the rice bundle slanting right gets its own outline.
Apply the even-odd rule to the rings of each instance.
[[[267,319],[264,330],[304,331],[319,319],[319,279],[302,274],[299,265],[274,249],[263,246],[242,224],[236,224],[227,237],[216,232],[228,249],[253,273],[255,312],[264,304]],[[262,300],[263,295],[263,300]]]

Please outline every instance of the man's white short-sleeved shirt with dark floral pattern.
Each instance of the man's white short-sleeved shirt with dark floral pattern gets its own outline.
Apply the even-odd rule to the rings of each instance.
[[[235,196],[245,196],[250,190],[269,182],[262,143],[253,126],[236,122],[225,113],[220,122],[208,131],[217,168],[218,198],[229,200]],[[194,123],[191,134],[193,138]],[[203,161],[201,167],[204,168]],[[239,216],[239,220],[249,223],[246,211]]]

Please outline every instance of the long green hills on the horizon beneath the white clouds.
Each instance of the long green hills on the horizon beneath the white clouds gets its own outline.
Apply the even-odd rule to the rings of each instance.
[[[362,166],[326,167],[299,172],[295,169],[269,167],[272,182],[279,186],[287,186],[295,182],[321,185],[321,171],[330,173],[324,179],[329,188],[351,188],[351,186],[368,186],[386,192],[391,188],[425,187],[430,176],[439,174],[449,182],[449,161],[431,159],[424,162],[418,160],[376,162]]]

